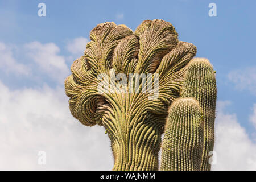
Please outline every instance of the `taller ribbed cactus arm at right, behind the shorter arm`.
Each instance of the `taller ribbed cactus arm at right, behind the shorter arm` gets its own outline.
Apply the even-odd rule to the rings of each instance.
[[[200,170],[209,171],[209,152],[214,146],[214,120],[217,87],[214,70],[209,60],[195,58],[187,65],[181,97],[193,97],[203,109],[204,145]]]

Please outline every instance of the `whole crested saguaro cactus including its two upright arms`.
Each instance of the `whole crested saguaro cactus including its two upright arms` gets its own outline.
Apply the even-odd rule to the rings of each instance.
[[[113,170],[209,170],[216,81],[196,47],[171,23],[145,20],[133,32],[106,22],[90,32],[65,91],[73,117],[104,126]],[[169,108],[170,107],[170,108]]]

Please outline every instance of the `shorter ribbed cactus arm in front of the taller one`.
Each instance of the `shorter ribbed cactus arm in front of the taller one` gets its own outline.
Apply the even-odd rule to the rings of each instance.
[[[203,122],[199,103],[179,98],[170,107],[162,143],[161,170],[200,170]]]

